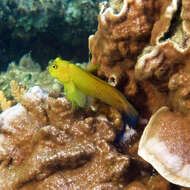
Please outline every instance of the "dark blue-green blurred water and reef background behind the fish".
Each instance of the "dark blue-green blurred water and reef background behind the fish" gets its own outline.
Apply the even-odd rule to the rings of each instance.
[[[88,36],[95,33],[98,0],[1,0],[0,70],[26,53],[43,69],[56,56],[88,61]]]

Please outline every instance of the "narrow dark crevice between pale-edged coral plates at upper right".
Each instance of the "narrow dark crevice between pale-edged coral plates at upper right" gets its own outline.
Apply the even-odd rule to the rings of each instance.
[[[178,6],[178,9],[173,15],[173,18],[170,23],[170,27],[169,27],[168,31],[165,32],[164,36],[159,39],[159,42],[163,42],[163,41],[171,38],[175,34],[177,27],[181,24],[181,22],[182,22],[182,20],[180,18],[181,9],[182,9],[182,1],[181,0],[178,1],[177,6]]]

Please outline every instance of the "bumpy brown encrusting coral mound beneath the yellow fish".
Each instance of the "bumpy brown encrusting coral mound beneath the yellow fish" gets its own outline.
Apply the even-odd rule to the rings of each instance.
[[[0,115],[1,190],[120,189],[130,159],[110,145],[121,128],[116,110],[107,107],[108,119],[106,112],[74,112],[37,86],[19,93],[20,103]]]

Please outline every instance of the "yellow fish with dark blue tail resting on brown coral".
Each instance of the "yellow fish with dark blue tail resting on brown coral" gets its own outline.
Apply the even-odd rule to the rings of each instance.
[[[61,58],[51,61],[48,70],[64,85],[66,98],[72,102],[73,108],[84,107],[85,95],[88,95],[127,114],[130,120],[137,120],[137,111],[117,89],[86,70]]]

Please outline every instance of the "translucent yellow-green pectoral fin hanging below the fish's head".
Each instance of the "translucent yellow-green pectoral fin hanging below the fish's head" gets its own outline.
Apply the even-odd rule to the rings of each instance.
[[[74,82],[64,85],[64,88],[66,92],[66,98],[72,103],[72,109],[85,107],[86,95],[77,88]]]

